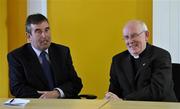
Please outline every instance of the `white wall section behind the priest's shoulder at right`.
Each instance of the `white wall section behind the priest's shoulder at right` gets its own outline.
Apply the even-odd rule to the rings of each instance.
[[[153,45],[180,63],[180,0],[153,0]]]

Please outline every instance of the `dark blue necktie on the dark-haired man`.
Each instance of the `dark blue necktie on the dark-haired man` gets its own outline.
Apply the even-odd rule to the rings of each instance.
[[[42,66],[44,74],[48,80],[49,88],[52,90],[54,88],[54,85],[53,85],[54,82],[53,82],[53,78],[52,78],[52,72],[51,72],[50,64],[46,58],[46,54],[47,53],[45,51],[42,51],[40,54],[40,58],[42,60],[41,66]]]

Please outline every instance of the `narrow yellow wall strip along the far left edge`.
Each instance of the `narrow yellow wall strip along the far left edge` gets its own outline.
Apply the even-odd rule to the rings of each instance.
[[[7,44],[7,1],[0,0],[0,97],[8,97]]]

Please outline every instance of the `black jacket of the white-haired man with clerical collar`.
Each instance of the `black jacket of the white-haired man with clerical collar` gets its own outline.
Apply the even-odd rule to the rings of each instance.
[[[176,101],[170,54],[148,44],[140,59],[134,74],[128,51],[113,57],[109,91],[126,100]]]

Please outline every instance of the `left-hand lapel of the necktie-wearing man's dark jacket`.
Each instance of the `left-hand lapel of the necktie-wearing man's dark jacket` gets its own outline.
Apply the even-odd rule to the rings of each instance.
[[[39,59],[30,44],[28,45],[28,53],[27,54],[28,54],[28,58],[29,58],[29,63],[30,63],[29,68],[31,70],[31,73],[36,75],[37,78],[39,78],[39,80],[42,81],[42,83],[46,87],[48,87],[48,85],[47,85],[48,81],[43,73]]]

